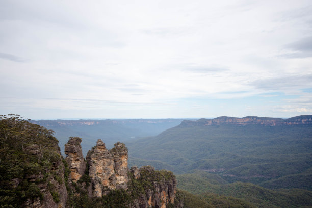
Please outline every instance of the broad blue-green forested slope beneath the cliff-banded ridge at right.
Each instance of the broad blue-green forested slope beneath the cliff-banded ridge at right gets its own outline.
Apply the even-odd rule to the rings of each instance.
[[[144,159],[144,163],[157,161],[177,174],[197,169],[217,174],[228,183],[311,190],[312,125],[205,122],[207,119],[183,122],[156,137],[128,142],[129,153],[136,158],[130,158],[129,164],[140,166]]]

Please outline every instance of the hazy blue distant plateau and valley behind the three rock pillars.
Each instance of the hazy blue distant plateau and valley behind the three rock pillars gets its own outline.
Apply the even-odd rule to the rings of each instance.
[[[91,149],[97,139],[112,148],[117,141],[125,142],[155,136],[177,126],[184,119],[116,119],[116,120],[38,120],[31,121],[55,131],[55,137],[64,154],[64,144],[71,136],[81,137],[83,154]]]

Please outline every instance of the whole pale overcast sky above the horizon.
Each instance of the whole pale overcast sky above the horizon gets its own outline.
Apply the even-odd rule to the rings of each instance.
[[[312,1],[0,1],[0,114],[312,114]]]

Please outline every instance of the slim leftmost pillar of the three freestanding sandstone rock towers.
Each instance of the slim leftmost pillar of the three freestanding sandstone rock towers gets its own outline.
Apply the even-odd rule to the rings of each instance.
[[[79,137],[70,137],[68,143],[65,144],[66,162],[70,169],[70,178],[76,182],[81,178],[86,170],[86,162],[82,154],[80,143],[82,142]]]

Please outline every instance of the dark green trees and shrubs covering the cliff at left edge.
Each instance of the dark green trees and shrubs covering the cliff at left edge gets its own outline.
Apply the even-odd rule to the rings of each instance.
[[[39,184],[60,176],[51,171],[61,159],[53,131],[20,118],[0,115],[0,202],[20,207],[27,199],[42,199]]]

